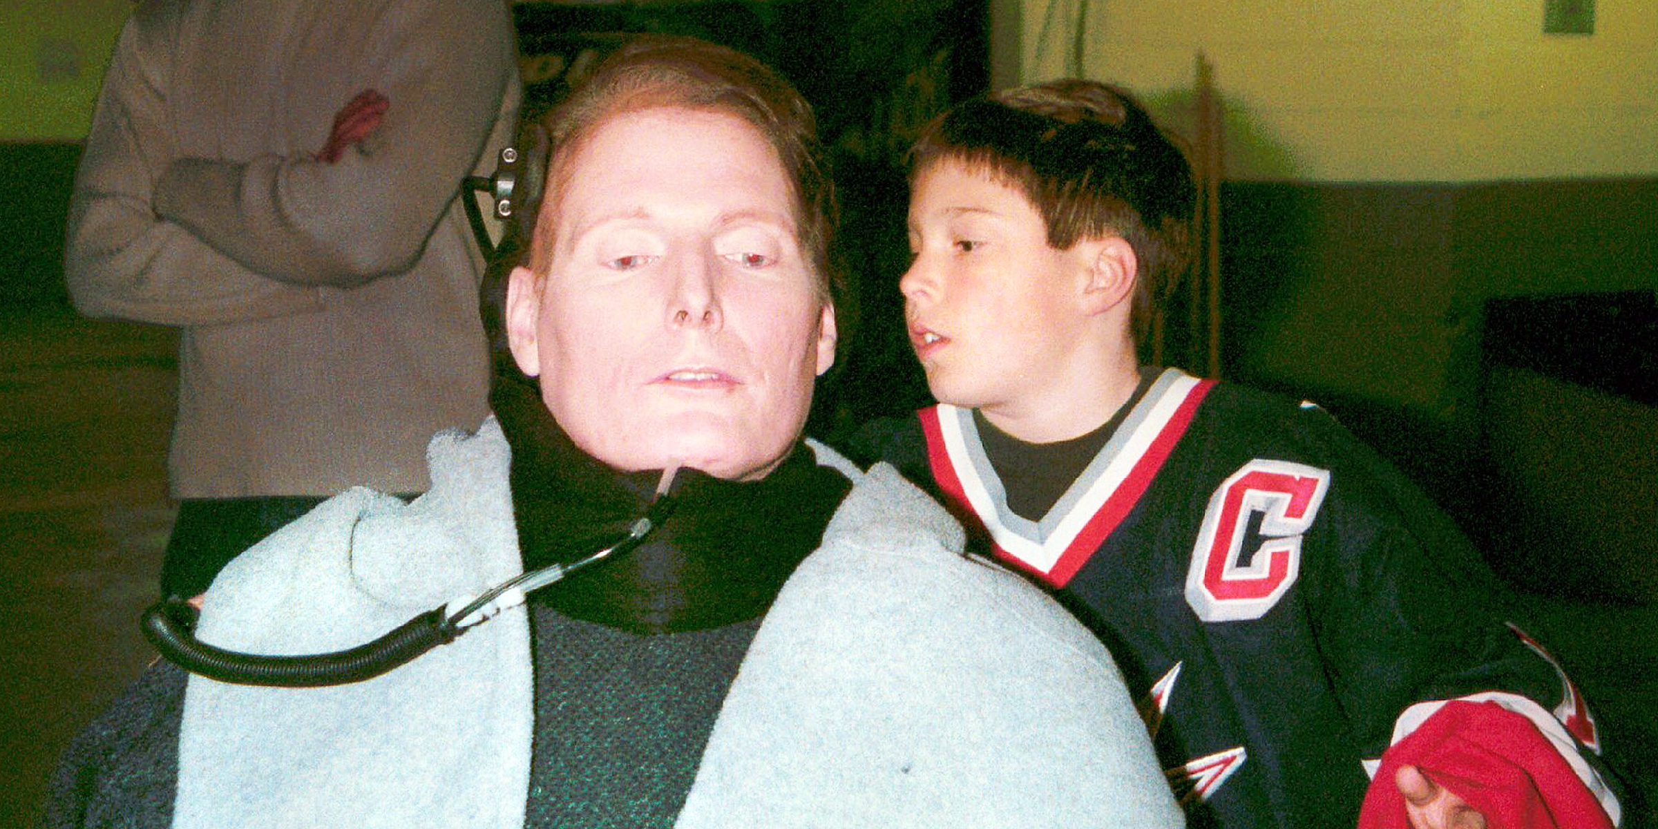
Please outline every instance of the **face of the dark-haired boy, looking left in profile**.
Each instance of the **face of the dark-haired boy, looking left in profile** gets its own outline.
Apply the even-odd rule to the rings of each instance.
[[[933,396],[993,423],[1073,405],[1089,245],[1048,245],[1023,192],[955,161],[915,177],[909,232],[915,259],[899,288]]]

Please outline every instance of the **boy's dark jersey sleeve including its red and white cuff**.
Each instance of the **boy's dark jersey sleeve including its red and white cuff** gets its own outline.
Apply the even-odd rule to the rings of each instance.
[[[1510,599],[1477,550],[1345,433],[1326,448],[1330,494],[1307,539],[1321,547],[1308,555],[1321,562],[1315,623],[1361,749],[1379,758],[1366,763],[1366,801],[1396,794],[1388,769],[1403,761],[1469,802],[1514,809],[1540,797],[1557,814],[1588,802],[1617,826],[1587,705],[1535,640],[1502,622]]]

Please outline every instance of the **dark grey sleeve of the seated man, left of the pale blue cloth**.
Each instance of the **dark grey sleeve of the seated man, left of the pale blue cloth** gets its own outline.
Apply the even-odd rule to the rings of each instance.
[[[51,776],[41,829],[172,822],[186,673],[153,665],[76,734]]]

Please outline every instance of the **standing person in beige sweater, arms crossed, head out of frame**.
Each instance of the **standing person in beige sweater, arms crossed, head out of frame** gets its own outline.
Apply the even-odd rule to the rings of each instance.
[[[506,0],[166,0],[116,43],[75,177],[81,313],[179,328],[161,587],[323,497],[428,486],[487,411],[461,181],[511,141]]]

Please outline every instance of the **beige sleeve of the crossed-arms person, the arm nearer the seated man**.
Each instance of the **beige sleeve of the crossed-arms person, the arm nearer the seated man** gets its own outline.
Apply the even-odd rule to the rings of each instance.
[[[484,149],[516,81],[516,38],[494,0],[393,5],[378,28],[368,65],[350,70],[390,99],[366,139],[333,164],[312,153],[176,159],[156,212],[293,285],[408,270]]]

